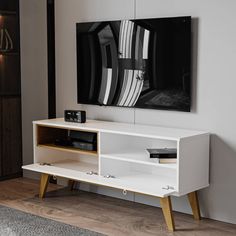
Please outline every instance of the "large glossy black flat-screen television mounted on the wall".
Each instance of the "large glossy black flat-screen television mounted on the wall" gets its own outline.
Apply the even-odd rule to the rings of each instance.
[[[76,29],[78,103],[190,110],[191,17]]]

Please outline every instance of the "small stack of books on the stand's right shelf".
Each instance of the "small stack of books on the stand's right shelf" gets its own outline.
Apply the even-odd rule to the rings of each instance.
[[[176,148],[148,148],[149,156],[160,164],[170,164],[177,162]]]

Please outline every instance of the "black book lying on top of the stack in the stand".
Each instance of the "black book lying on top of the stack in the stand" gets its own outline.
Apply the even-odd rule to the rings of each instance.
[[[177,158],[177,148],[147,148],[150,158]]]

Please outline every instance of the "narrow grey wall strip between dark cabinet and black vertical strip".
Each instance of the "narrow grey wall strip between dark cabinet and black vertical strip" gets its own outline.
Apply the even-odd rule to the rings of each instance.
[[[33,160],[32,121],[47,117],[45,0],[20,0],[23,163]],[[32,176],[24,173],[25,176]]]

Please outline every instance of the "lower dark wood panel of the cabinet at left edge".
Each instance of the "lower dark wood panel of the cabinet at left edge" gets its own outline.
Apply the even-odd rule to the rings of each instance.
[[[21,171],[21,100],[19,97],[2,98],[1,107],[2,175],[8,176]]]

